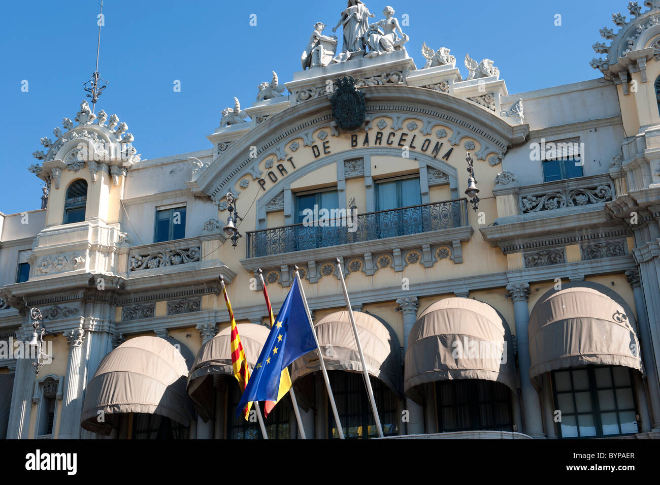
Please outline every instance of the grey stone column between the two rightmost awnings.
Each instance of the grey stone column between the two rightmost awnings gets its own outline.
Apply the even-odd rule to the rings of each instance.
[[[529,284],[516,283],[507,285],[506,289],[513,300],[513,313],[515,315],[515,338],[518,342],[518,372],[520,373],[520,387],[523,398],[523,433],[539,439],[545,438],[543,434],[543,420],[541,418],[541,401],[539,393],[529,381]]]

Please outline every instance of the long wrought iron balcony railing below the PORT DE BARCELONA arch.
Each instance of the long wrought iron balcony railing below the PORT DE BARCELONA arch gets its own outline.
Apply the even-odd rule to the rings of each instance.
[[[247,233],[247,257],[261,257],[355,242],[411,236],[467,226],[467,201],[434,202],[401,209],[293,224]]]

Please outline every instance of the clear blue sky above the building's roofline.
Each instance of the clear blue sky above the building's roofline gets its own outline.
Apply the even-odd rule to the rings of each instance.
[[[100,0],[3,3],[0,25],[0,211],[40,207],[40,179],[28,172],[39,139],[53,139],[63,117],[73,119],[84,99],[82,83],[94,71]],[[627,0],[418,1],[387,0],[418,67],[422,42],[446,46],[457,58],[488,57],[510,93],[599,77],[589,61],[599,28],[626,17]],[[640,5],[642,1],[640,1]],[[366,0],[380,20],[384,3]],[[110,81],[96,110],[117,113],[135,136],[142,158],[211,148],[206,135],[220,110],[238,96],[243,107],[257,84],[277,71],[282,82],[300,71],[300,53],[314,22],[339,20],[345,0],[181,1],[105,0],[99,71]],[[644,7],[645,10],[645,7]],[[257,26],[250,26],[250,15]],[[555,14],[562,26],[554,26]],[[616,31],[616,28],[615,28]],[[337,32],[341,42],[341,30]],[[174,92],[174,80],[181,92]],[[28,92],[21,92],[22,80]]]

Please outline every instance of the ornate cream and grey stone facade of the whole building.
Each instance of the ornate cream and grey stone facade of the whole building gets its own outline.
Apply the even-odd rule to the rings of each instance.
[[[393,10],[351,1],[343,44],[317,23],[303,71],[265,72],[211,148],[164,158],[83,102],[34,152],[48,206],[0,216],[0,434],[258,437],[218,275],[254,365],[257,271],[277,313],[297,266],[345,434],[376,436],[339,258],[387,436],[659,437],[660,3],[628,8],[593,45],[605,81],[510,94],[490,59],[461,72],[424,43],[417,67]],[[14,352],[33,307],[38,374]],[[298,364],[307,437],[337,437]],[[269,435],[300,436],[275,409]]]

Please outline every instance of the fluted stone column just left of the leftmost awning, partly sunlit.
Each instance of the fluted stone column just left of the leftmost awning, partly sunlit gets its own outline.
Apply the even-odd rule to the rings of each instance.
[[[81,368],[81,355],[85,331],[82,327],[77,327],[63,335],[69,342],[69,362],[67,362],[67,374],[65,375],[59,439],[78,439],[81,431],[81,379],[84,375],[84,366]]]

